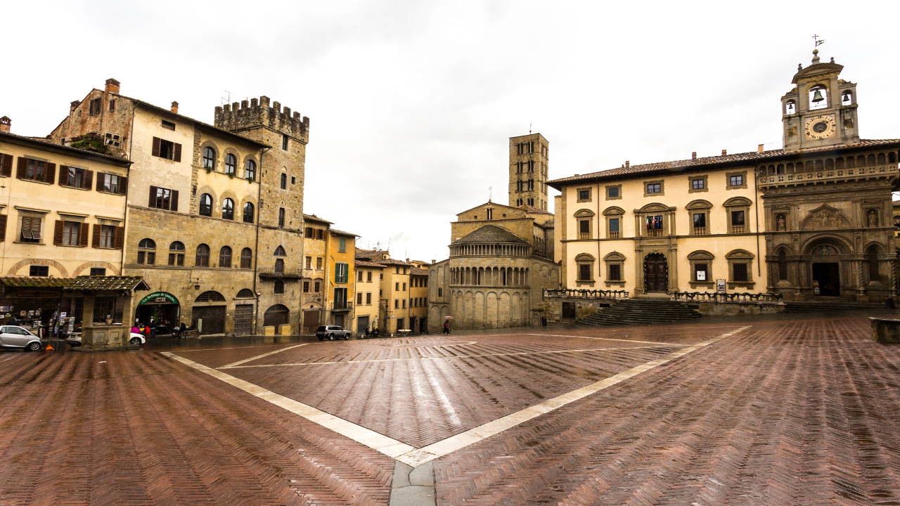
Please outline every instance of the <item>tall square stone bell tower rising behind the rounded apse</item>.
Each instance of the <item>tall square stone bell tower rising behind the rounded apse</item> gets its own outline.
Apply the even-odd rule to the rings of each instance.
[[[550,143],[540,133],[509,138],[509,205],[547,210]]]

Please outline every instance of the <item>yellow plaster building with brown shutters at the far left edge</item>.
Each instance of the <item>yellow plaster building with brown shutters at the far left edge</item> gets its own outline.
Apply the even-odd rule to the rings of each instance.
[[[2,276],[121,276],[130,162],[10,124],[0,118]]]

